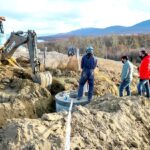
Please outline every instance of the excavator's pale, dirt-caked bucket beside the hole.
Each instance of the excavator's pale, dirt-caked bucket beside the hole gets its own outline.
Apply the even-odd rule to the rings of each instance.
[[[35,83],[39,83],[41,87],[50,87],[52,84],[52,75],[49,71],[39,72],[32,77]]]

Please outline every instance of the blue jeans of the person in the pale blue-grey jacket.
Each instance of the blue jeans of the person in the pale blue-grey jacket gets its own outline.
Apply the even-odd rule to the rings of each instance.
[[[125,89],[127,92],[127,96],[131,95],[131,91],[130,91],[130,80],[123,80],[120,84],[119,87],[119,96],[122,97],[123,96],[123,90]]]

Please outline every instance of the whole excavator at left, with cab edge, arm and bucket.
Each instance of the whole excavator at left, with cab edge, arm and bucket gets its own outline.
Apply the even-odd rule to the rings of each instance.
[[[5,21],[5,17],[0,17],[0,34],[4,34],[2,21]],[[27,44],[28,47],[33,81],[39,83],[42,87],[50,86],[52,83],[50,72],[42,72],[40,70],[41,62],[38,58],[37,52],[37,35],[33,30],[28,30],[27,32],[11,32],[10,37],[4,45],[0,47],[1,63],[4,65],[11,64],[12,66],[19,67],[19,64],[12,55],[15,53],[16,49],[23,44]]]

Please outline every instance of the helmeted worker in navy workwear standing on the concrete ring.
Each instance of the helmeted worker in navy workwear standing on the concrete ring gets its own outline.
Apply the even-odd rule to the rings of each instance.
[[[88,82],[88,101],[92,100],[93,89],[94,89],[94,69],[97,66],[97,59],[93,54],[93,47],[89,46],[86,49],[86,54],[82,57],[81,69],[82,74],[79,82],[78,97],[77,100],[80,100],[83,96],[83,87],[86,82]]]

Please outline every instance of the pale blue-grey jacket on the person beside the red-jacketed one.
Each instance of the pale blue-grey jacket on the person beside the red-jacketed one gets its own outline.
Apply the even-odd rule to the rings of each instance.
[[[121,80],[131,81],[133,78],[133,64],[127,60],[122,68]]]

